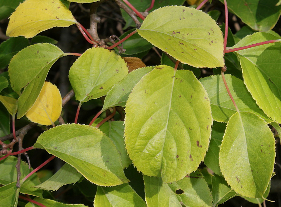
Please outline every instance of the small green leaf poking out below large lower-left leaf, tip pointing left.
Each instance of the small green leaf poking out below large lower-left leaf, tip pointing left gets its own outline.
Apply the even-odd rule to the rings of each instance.
[[[71,165],[64,164],[61,169],[59,169],[55,175],[34,187],[41,188],[44,190],[58,190],[63,185],[76,183],[82,175]]]

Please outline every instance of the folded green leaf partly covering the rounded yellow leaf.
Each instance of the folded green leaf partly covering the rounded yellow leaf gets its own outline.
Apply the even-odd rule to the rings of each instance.
[[[62,56],[64,53],[57,46],[42,43],[24,48],[12,58],[8,72],[12,89],[20,95],[18,119],[33,106],[50,68]]]

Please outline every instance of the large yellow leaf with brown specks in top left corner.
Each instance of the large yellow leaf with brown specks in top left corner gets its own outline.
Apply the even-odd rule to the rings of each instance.
[[[7,36],[31,38],[52,27],[77,23],[60,0],[26,0],[9,17]]]

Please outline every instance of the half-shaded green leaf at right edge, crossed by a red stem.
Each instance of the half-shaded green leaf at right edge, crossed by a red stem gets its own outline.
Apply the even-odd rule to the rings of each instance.
[[[274,39],[274,35],[257,32],[233,48]],[[276,57],[280,57],[280,49],[280,43],[270,43],[236,51],[248,91],[264,113],[278,123],[281,123],[281,58]]]

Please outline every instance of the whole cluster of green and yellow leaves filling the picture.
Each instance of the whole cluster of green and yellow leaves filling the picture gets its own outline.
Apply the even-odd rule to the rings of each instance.
[[[197,207],[217,206],[234,196],[255,203],[266,199],[275,162],[275,138],[268,124],[281,131],[281,37],[271,30],[281,6],[274,0],[237,2],[229,1],[229,9],[251,29],[235,35],[229,31],[226,50],[222,29],[215,21],[217,12],[210,12],[212,18],[181,6],[183,0],[156,1],[137,34],[124,42],[126,56],[143,56],[155,46],[183,63],[183,70],[173,68],[164,53],[161,65],[130,73],[117,51],[92,47],[81,54],[69,70],[79,108],[103,96],[101,112],[126,106],[125,121],[105,122],[99,129],[95,126],[101,119],[89,125],[55,126],[62,112],[62,97],[57,87],[45,80],[60,57],[73,53],[65,53],[52,39],[36,35],[52,27],[80,27],[68,9],[69,2],[22,2],[10,16],[7,36],[11,38],[0,45],[1,67],[9,64],[8,76],[0,75],[0,92],[6,90],[0,101],[17,119],[26,116],[32,122],[55,126],[38,137],[34,148],[44,149],[66,164],[40,183],[36,174],[24,178],[30,170],[21,161],[24,179],[19,188],[13,167],[17,159],[2,159],[0,206],[17,206],[22,193],[36,197],[25,206],[82,207],[48,200],[42,191],[58,190],[84,178],[97,185],[96,207]],[[150,1],[133,4],[144,12]],[[175,4],[178,6],[171,6]],[[6,9],[3,17],[13,8],[0,6]],[[121,13],[125,27],[131,26],[129,16]],[[31,43],[26,38],[32,38]],[[271,40],[277,41],[224,56],[227,50]],[[225,80],[223,75],[197,79],[199,68],[225,65],[230,69]],[[214,70],[215,74],[220,71]],[[7,95],[9,88],[16,93]],[[198,169],[202,161],[213,175]],[[143,174],[145,201],[124,174],[131,163]]]

